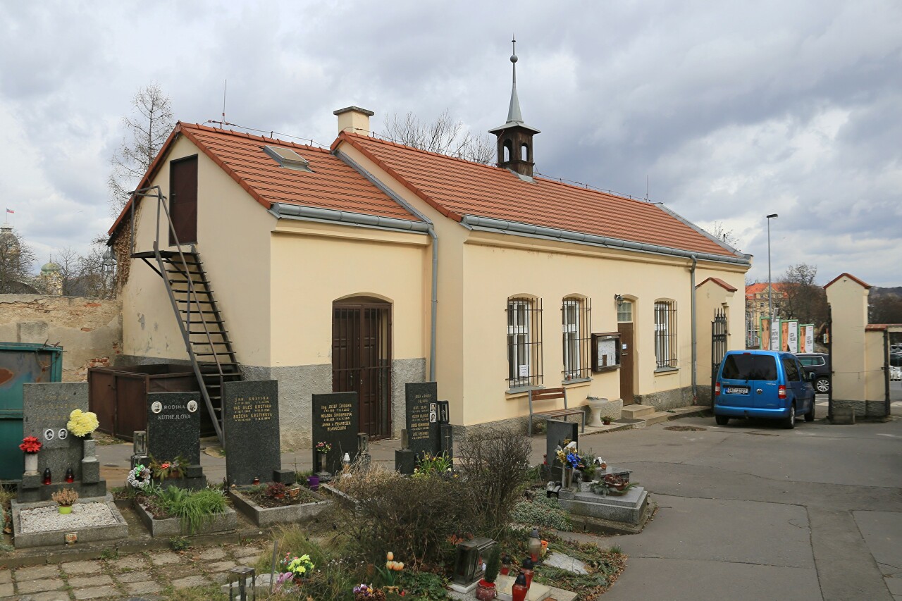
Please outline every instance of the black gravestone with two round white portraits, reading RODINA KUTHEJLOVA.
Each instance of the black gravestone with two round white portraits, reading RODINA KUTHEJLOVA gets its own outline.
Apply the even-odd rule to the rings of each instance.
[[[147,454],[200,464],[200,393],[147,395]]]

